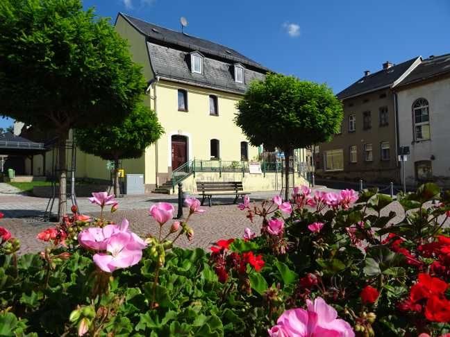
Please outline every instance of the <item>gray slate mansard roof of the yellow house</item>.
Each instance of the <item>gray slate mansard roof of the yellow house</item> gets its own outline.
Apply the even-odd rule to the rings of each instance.
[[[196,85],[243,93],[254,79],[264,79],[269,69],[234,49],[184,33],[149,24],[119,13],[147,37],[151,67],[156,75],[183,80]],[[190,70],[190,53],[199,51],[203,57],[203,74]],[[235,83],[234,64],[244,66],[244,83]]]

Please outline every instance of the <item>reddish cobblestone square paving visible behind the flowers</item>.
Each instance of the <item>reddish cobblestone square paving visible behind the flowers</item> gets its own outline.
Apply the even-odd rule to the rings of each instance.
[[[323,187],[320,189],[328,190]],[[251,194],[251,200],[258,202],[269,199],[276,193],[276,191],[255,192]],[[157,234],[158,225],[148,215],[147,211],[153,202],[171,202],[177,208],[177,196],[174,195],[127,196],[117,200],[119,200],[119,210],[113,214],[108,214],[110,218],[116,222],[122,221],[122,218],[128,218],[131,230],[142,236],[148,233]],[[38,252],[45,247],[44,243],[36,239],[36,235],[53,225],[43,219],[47,202],[48,200],[44,198],[4,196],[0,193],[0,211],[5,214],[5,218],[0,220],[0,226],[6,227],[15,237],[20,239],[20,252],[22,254]],[[56,204],[57,202],[58,200],[56,200]],[[252,224],[246,218],[245,213],[240,211],[232,202],[233,198],[229,197],[213,198],[213,207],[205,206],[203,207],[206,209],[204,214],[192,216],[190,225],[195,232],[192,243],[189,243],[185,238],[180,238],[178,239],[178,245],[207,248],[211,242],[217,241],[217,239],[242,236],[245,227],[258,231],[260,224]],[[91,205],[87,198],[80,198],[78,205],[83,214],[99,216],[99,207]],[[187,216],[188,209],[184,209],[183,214]]]

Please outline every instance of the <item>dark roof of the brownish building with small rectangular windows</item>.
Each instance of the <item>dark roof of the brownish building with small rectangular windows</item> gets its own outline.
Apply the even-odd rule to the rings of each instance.
[[[415,62],[417,58],[412,58],[406,62],[396,64],[388,69],[377,71],[369,76],[364,76],[357,80],[355,83],[345,88],[337,96],[340,99],[344,99],[350,96],[356,96],[363,94],[364,92],[370,92],[378,88],[387,87],[394,83],[410,66]]]

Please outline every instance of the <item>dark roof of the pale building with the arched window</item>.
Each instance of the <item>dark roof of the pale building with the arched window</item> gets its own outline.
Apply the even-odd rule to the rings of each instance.
[[[401,81],[399,86],[408,85],[447,73],[450,74],[450,54],[426,58]]]

